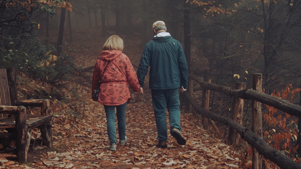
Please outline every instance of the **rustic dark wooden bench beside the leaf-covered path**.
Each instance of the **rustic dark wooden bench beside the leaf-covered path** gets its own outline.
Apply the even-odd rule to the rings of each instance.
[[[26,107],[41,107],[41,114],[27,115]],[[16,140],[16,153],[1,153],[0,157],[27,161],[33,128],[39,128],[42,143],[52,148],[52,131],[49,99],[17,100],[15,69],[0,69],[0,143]]]

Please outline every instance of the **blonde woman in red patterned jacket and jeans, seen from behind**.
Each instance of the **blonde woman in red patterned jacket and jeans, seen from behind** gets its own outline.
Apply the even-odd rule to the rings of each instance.
[[[116,151],[115,107],[118,121],[119,144],[124,146],[126,137],[126,105],[131,98],[128,83],[135,92],[143,93],[139,85],[137,74],[129,58],[122,53],[123,40],[117,36],[110,36],[103,46],[101,54],[95,64],[92,77],[92,96],[94,89],[101,81],[98,100],[104,105],[107,116],[107,131],[110,139],[110,150]]]

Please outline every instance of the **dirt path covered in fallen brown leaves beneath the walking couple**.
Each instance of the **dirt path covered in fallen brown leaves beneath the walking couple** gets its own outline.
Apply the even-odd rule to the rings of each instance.
[[[219,139],[203,131],[192,114],[182,113],[183,135],[187,139],[180,146],[169,134],[168,148],[154,146],[156,125],[149,94],[142,102],[131,102],[126,111],[127,137],[125,146],[108,150],[106,118],[103,106],[91,101],[90,91],[83,89],[86,103],[84,118],[77,124],[54,121],[54,146],[64,143],[66,152],[43,153],[36,167],[71,168],[237,168],[239,158]],[[146,98],[146,99],[145,99]],[[40,155],[39,153],[37,155]]]

